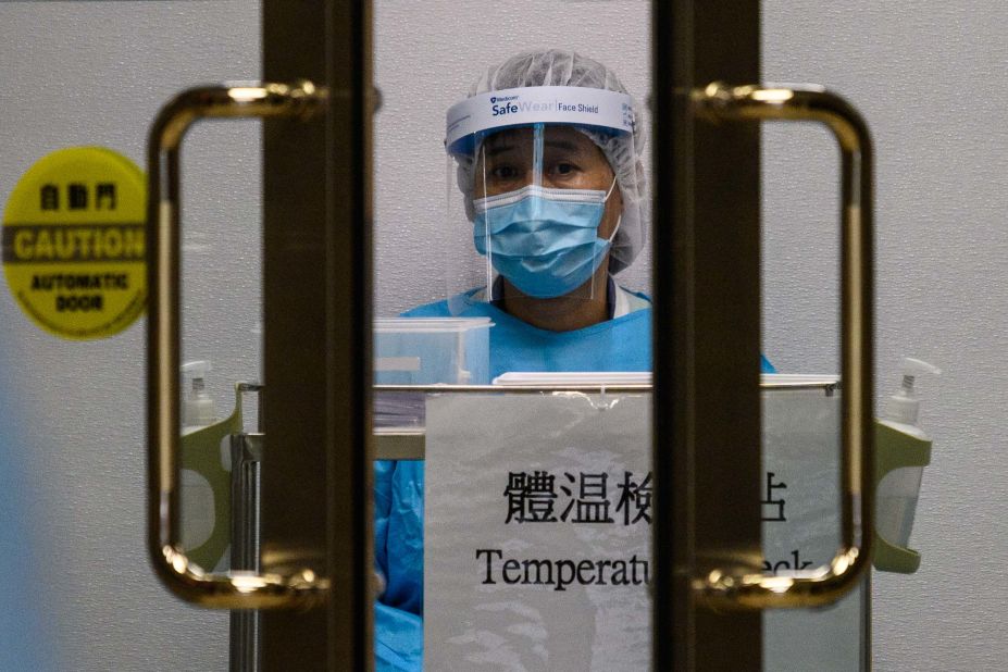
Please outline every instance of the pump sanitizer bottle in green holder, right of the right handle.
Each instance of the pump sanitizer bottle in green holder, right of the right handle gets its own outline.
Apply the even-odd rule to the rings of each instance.
[[[886,400],[879,423],[930,445],[931,437],[918,424],[920,399],[913,384],[922,373],[938,375],[942,372],[937,366],[909,357],[903,360],[901,371],[903,385]],[[909,545],[923,475],[923,466],[897,469],[886,475],[875,490],[875,531],[889,544],[901,548]]]

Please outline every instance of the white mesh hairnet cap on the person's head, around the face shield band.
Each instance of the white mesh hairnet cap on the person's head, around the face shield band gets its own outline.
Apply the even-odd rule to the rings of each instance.
[[[589,58],[561,49],[526,51],[511,57],[486,73],[469,90],[469,96],[527,86],[583,86],[626,94],[615,73]],[[634,101],[634,117],[640,120]],[[644,124],[634,125],[633,135],[608,135],[575,126],[602,150],[617,176],[623,197],[623,220],[612,241],[609,270],[619,273],[636,259],[647,239],[647,178],[640,163],[644,149]],[[465,197],[465,210],[473,216],[473,158],[456,155],[459,188]]]

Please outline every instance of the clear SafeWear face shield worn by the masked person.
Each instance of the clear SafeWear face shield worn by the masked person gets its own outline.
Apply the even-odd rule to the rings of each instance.
[[[624,200],[614,152],[633,148],[630,96],[584,87],[482,94],[448,111],[447,295],[453,314],[599,308]]]

